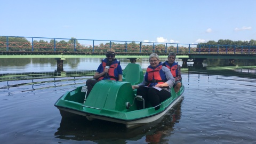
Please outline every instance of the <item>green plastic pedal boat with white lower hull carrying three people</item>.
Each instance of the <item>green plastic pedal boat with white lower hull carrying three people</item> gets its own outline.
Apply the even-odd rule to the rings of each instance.
[[[177,93],[172,88],[171,97],[155,110],[149,102],[136,95],[137,90],[132,89],[131,85],[139,84],[142,80],[140,65],[129,63],[123,71],[123,82],[100,81],[94,85],[88,97],[85,97],[87,86],[79,86],[62,95],[54,106],[60,110],[62,117],[82,115],[89,120],[102,119],[131,128],[156,121],[183,98],[183,85]],[[138,101],[143,101],[143,109],[138,109]]]

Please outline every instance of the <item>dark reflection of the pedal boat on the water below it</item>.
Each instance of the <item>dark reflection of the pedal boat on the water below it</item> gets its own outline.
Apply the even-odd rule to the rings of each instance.
[[[115,140],[118,143],[138,140],[142,140],[142,142],[158,143],[163,140],[162,138],[165,135],[171,135],[173,126],[175,123],[179,122],[181,118],[181,102],[182,101],[157,121],[134,129],[127,129],[124,124],[99,119],[88,121],[86,117],[83,116],[62,118],[60,127],[54,135],[55,138],[76,141],[103,143],[109,139],[111,141]]]

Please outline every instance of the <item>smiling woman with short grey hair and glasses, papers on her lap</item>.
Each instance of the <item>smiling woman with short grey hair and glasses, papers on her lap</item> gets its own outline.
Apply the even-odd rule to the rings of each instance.
[[[170,87],[174,84],[174,78],[170,73],[170,69],[163,66],[159,61],[159,56],[152,53],[149,56],[149,63],[145,77],[142,83],[133,85],[133,89],[137,90],[137,95],[141,95],[145,101],[149,101],[155,110],[159,109],[159,103],[171,97]],[[139,102],[142,109],[143,102]]]

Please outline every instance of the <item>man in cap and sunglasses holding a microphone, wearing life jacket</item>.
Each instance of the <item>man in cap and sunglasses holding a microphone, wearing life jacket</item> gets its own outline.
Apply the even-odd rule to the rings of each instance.
[[[106,58],[101,60],[101,64],[96,70],[93,78],[96,79],[88,79],[86,81],[87,86],[87,95],[92,90],[92,87],[99,81],[103,79],[111,79],[115,81],[122,82],[122,67],[120,65],[120,61],[115,59],[116,52],[114,49],[108,49],[106,53]],[[86,95],[86,96],[87,96]]]

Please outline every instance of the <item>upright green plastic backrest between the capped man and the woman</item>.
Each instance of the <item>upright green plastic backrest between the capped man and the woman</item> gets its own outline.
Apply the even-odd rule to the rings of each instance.
[[[136,85],[141,83],[143,78],[143,71],[139,64],[128,63],[123,70],[123,82],[129,82],[131,85]]]

